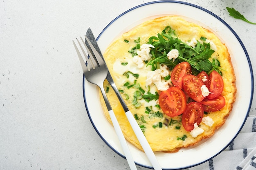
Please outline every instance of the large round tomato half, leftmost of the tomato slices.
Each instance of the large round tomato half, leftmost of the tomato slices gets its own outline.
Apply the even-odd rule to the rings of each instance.
[[[162,91],[159,95],[159,105],[163,112],[171,117],[181,115],[186,109],[185,93],[175,86]]]

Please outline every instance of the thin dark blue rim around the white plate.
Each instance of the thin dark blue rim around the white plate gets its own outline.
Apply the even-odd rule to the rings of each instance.
[[[247,62],[248,62],[247,64],[248,64],[248,66],[249,66],[249,72],[250,72],[250,74],[251,74],[250,78],[251,78],[251,81],[252,81],[252,83],[251,83],[251,89],[252,89],[252,90],[251,90],[251,95],[248,96],[248,97],[250,97],[250,99],[249,99],[249,104],[248,104],[248,109],[247,109],[247,113],[246,113],[245,116],[244,116],[243,123],[242,123],[241,126],[240,126],[240,129],[238,129],[238,130],[236,131],[237,133],[234,135],[233,139],[230,140],[229,143],[228,143],[224,148],[222,148],[221,150],[219,150],[219,152],[217,152],[215,155],[212,155],[211,157],[207,158],[207,159],[204,160],[204,161],[201,161],[201,162],[198,162],[198,163],[193,163],[193,164],[187,165],[187,166],[185,166],[185,167],[178,167],[178,168],[175,167],[175,169],[191,168],[191,167],[193,167],[193,166],[197,166],[197,165],[199,165],[199,164],[201,164],[201,163],[204,163],[204,162],[208,161],[209,159],[212,159],[213,157],[216,157],[218,154],[220,154],[220,152],[222,152],[223,150],[225,150],[225,148],[227,148],[227,146],[229,146],[229,144],[231,143],[231,141],[233,141],[233,140],[236,138],[236,136],[238,135],[238,133],[240,132],[240,130],[243,128],[243,126],[244,126],[244,124],[245,124],[245,121],[246,121],[246,119],[247,119],[247,116],[249,115],[249,110],[250,110],[251,105],[252,105],[252,98],[253,98],[253,93],[254,93],[254,88],[253,88],[253,86],[254,86],[254,85],[253,85],[253,83],[254,83],[254,77],[253,77],[253,71],[252,71],[252,64],[251,64],[251,61],[250,61],[250,59],[249,59],[249,55],[248,55],[248,53],[247,53],[247,50],[245,49],[245,46],[243,45],[243,42],[240,40],[240,38],[238,37],[238,35],[236,34],[236,32],[229,26],[229,24],[227,24],[224,20],[222,20],[220,17],[218,17],[216,14],[212,13],[211,11],[208,11],[207,9],[204,9],[204,8],[202,8],[202,7],[199,7],[199,6],[195,5],[195,4],[190,4],[190,3],[187,3],[187,2],[180,2],[180,1],[173,1],[173,0],[164,0],[164,1],[163,1],[163,0],[162,0],[162,1],[148,2],[148,3],[145,3],[145,4],[138,5],[138,6],[136,6],[136,7],[133,7],[133,8],[131,8],[131,9],[129,9],[128,11],[126,11],[126,12],[122,13],[121,15],[119,15],[119,16],[118,16],[117,18],[115,18],[114,20],[112,20],[112,22],[110,22],[110,23],[103,29],[103,31],[99,34],[99,36],[97,37],[97,41],[101,38],[102,34],[106,31],[106,29],[108,29],[115,21],[117,21],[119,18],[121,18],[121,17],[124,16],[125,14],[127,14],[127,13],[129,13],[129,12],[131,12],[131,11],[133,11],[133,10],[139,9],[140,7],[145,7],[145,6],[147,6],[147,5],[158,4],[158,3],[183,4],[183,5],[195,7],[196,9],[199,9],[199,10],[201,10],[201,11],[206,12],[206,13],[212,15],[214,18],[218,19],[220,22],[222,22],[222,24],[224,24],[224,25],[234,34],[234,36],[235,36],[236,39],[238,40],[240,46],[243,48],[243,52],[245,53],[245,56],[246,56],[246,58],[247,58]],[[84,96],[84,102],[85,102],[85,107],[86,107],[86,110],[87,110],[89,119],[90,119],[90,121],[91,121],[91,123],[92,123],[92,126],[94,127],[94,129],[96,130],[96,132],[98,133],[98,135],[101,137],[101,139],[106,143],[106,145],[108,145],[108,146],[109,146],[113,151],[115,151],[118,155],[120,155],[121,157],[125,158],[125,156],[124,156],[122,153],[120,153],[118,150],[116,150],[114,147],[112,147],[111,144],[108,143],[108,141],[107,141],[107,140],[102,136],[102,134],[99,132],[97,126],[95,126],[94,121],[92,120],[90,111],[89,111],[89,109],[88,109],[88,107],[89,107],[88,104],[87,104],[88,102],[87,102],[87,100],[86,100],[85,81],[86,81],[86,79],[85,79],[85,77],[83,77],[83,96]],[[149,169],[153,169],[152,166],[145,165],[145,164],[141,164],[141,163],[136,162],[136,161],[135,161],[135,163],[136,163],[137,165],[139,165],[139,166],[142,166],[142,167],[145,167],[145,168],[149,168]],[[164,170],[171,170],[171,169],[173,169],[173,168],[163,168],[163,169],[164,169]]]

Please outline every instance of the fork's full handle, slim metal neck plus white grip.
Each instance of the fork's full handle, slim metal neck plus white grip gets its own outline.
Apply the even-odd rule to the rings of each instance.
[[[122,149],[124,151],[124,155],[125,155],[126,160],[127,160],[128,164],[129,164],[130,170],[137,170],[137,168],[135,166],[135,162],[134,162],[134,160],[132,158],[132,154],[131,154],[131,152],[129,150],[129,147],[127,145],[126,139],[124,138],[124,134],[123,134],[123,132],[121,130],[121,127],[119,126],[119,123],[117,121],[117,117],[115,116],[115,113],[112,110],[112,107],[111,107],[111,105],[110,105],[110,103],[108,101],[108,97],[106,95],[106,92],[105,92],[103,86],[99,86],[99,88],[101,89],[101,93],[103,95],[104,101],[105,101],[106,106],[108,108],[108,113],[110,115],[110,119],[111,119],[112,124],[114,126],[114,129],[115,129],[115,131],[117,133],[117,137],[118,137],[119,142],[121,144],[121,147],[122,147]]]

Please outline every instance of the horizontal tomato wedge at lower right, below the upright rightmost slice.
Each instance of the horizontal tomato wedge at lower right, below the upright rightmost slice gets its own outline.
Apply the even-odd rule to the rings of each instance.
[[[202,104],[205,112],[215,112],[225,106],[225,98],[219,95],[214,99],[204,99],[200,104]]]

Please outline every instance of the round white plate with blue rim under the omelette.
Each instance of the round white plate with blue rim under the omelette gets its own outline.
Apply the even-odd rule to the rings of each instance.
[[[97,38],[101,51],[104,52],[115,38],[134,26],[164,15],[180,15],[218,35],[229,49],[236,74],[237,95],[233,110],[226,123],[211,138],[203,140],[199,145],[181,149],[177,153],[155,152],[163,169],[182,169],[196,166],[215,157],[238,135],[252,104],[253,74],[246,49],[234,30],[210,11],[186,2],[149,2],[122,13],[108,24]],[[85,106],[95,130],[112,150],[124,157],[115,130],[103,115],[98,89],[84,79],[83,93]],[[132,144],[128,146],[138,165],[152,168],[144,152]]]

